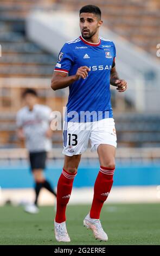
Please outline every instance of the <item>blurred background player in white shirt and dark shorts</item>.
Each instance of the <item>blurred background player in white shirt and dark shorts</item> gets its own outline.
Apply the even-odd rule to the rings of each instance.
[[[17,136],[19,139],[25,140],[35,181],[35,202],[25,206],[25,211],[36,214],[39,212],[37,201],[42,187],[56,197],[55,191],[43,174],[46,167],[47,151],[52,149],[52,130],[50,129],[52,110],[48,106],[37,103],[37,93],[33,89],[26,89],[22,97],[25,106],[17,113]]]

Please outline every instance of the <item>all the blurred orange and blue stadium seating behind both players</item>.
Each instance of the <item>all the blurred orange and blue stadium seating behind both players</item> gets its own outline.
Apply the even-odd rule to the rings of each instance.
[[[30,0],[2,0],[0,3],[0,43],[3,53],[0,58],[1,148],[23,146],[17,142],[15,135],[15,116],[16,111],[21,107],[22,90],[29,86],[29,78],[33,79],[31,83],[33,87],[39,90],[41,103],[47,103],[53,110],[56,109],[61,112],[62,106],[65,106],[66,94],[52,92],[49,86],[56,57],[27,39],[24,19],[30,10],[37,9],[37,4],[38,9],[49,9],[54,3],[54,8],[77,11],[86,2],[73,0],[43,2],[39,0],[34,2]],[[87,3],[89,2],[91,1]],[[144,50],[155,54],[155,43],[158,44],[160,41],[160,36],[156,32],[160,22],[160,12],[158,11],[160,4],[159,1],[154,0],[152,1],[154,5],[150,8],[150,2],[149,0],[140,2],[100,0],[98,4],[103,9],[105,25],[108,28],[126,39],[130,39]],[[96,4],[97,2],[93,0],[92,3]],[[7,78],[10,78],[11,82]],[[21,78],[23,78],[23,82],[20,80]],[[123,105],[121,99],[119,100],[119,106]],[[159,115],[134,113],[135,108],[129,101],[125,101],[124,109],[119,111],[114,101],[113,92],[113,108],[119,147],[158,147],[160,145]],[[119,114],[121,111],[123,113]],[[124,115],[126,111],[128,113]],[[61,131],[54,132],[53,144],[54,147],[62,146]]]

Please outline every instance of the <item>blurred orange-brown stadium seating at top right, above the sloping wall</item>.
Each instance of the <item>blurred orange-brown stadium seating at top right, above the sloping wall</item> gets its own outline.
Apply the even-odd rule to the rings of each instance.
[[[63,9],[77,11],[85,4],[98,4],[103,10],[104,25],[133,44],[156,56],[156,45],[160,42],[159,0],[60,0]]]

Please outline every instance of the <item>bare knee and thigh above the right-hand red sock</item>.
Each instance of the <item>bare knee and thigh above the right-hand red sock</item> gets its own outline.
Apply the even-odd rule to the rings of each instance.
[[[116,148],[108,144],[100,144],[97,148],[101,166],[115,168]]]

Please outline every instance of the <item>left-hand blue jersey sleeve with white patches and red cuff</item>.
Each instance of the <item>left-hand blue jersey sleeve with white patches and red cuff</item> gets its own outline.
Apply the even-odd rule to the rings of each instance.
[[[59,58],[54,71],[65,72],[68,74],[69,70],[72,68],[73,61],[74,61],[73,52],[69,47],[69,45],[66,43],[61,48],[61,51],[59,53]]]

